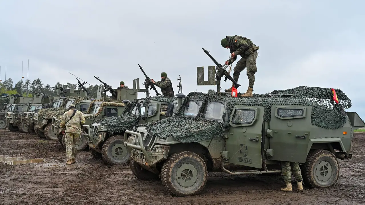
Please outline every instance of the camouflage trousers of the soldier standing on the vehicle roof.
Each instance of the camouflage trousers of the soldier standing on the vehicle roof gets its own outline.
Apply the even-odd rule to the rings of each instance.
[[[253,84],[255,83],[255,73],[257,72],[256,67],[256,58],[257,58],[257,51],[253,54],[247,56],[247,58],[241,58],[237,62],[237,65],[233,69],[233,79],[238,83],[239,74],[242,70],[246,67],[246,74],[249,78],[249,87],[253,88]]]

